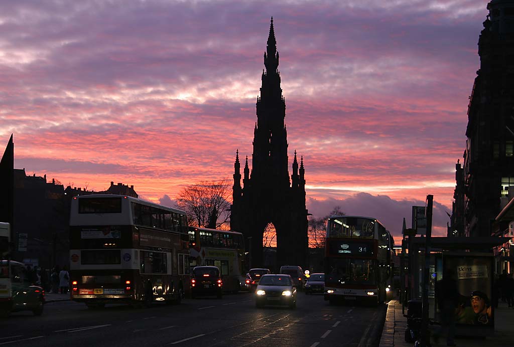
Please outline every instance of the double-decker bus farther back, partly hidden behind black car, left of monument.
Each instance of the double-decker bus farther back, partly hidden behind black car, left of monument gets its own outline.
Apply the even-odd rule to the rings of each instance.
[[[245,245],[243,234],[209,228],[189,228],[190,266],[216,266],[225,292],[237,293],[244,287]]]

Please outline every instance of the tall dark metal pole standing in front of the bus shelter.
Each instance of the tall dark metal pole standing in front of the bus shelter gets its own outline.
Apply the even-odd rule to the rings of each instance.
[[[428,335],[428,291],[430,287],[430,239],[432,236],[432,208],[433,208],[433,195],[427,195],[427,208],[425,216],[427,217],[427,237],[425,238],[425,267],[423,269],[423,279],[421,281],[421,298],[423,300],[423,311],[421,314],[421,347],[427,347],[430,344],[430,337]]]

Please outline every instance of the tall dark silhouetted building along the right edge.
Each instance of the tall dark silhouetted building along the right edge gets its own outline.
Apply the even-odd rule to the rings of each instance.
[[[500,197],[514,189],[514,0],[492,0],[487,9],[468,106],[463,180],[456,187],[465,194],[466,236],[490,236]]]

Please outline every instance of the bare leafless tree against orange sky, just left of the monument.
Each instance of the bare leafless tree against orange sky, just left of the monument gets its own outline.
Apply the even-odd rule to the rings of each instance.
[[[227,179],[201,181],[182,188],[177,205],[192,217],[192,226],[217,228],[229,219],[231,185]]]

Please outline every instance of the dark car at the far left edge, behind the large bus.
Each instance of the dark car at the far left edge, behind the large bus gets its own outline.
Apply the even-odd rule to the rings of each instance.
[[[32,311],[41,316],[44,303],[43,288],[32,284],[25,264],[0,261],[0,317],[18,311]]]

